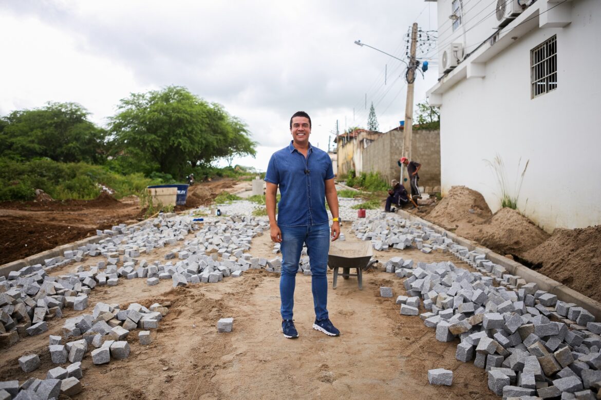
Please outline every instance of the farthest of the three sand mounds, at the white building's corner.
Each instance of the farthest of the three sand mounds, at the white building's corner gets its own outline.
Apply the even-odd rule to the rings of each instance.
[[[447,230],[458,230],[466,224],[481,224],[492,215],[484,197],[465,186],[451,187],[448,195],[427,216]]]

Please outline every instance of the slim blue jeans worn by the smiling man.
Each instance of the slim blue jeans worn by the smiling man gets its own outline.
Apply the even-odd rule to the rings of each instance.
[[[311,291],[317,320],[328,318],[328,251],[330,228],[327,223],[300,227],[279,227],[282,231],[282,273],[279,278],[279,296],[282,300],[282,320],[292,319],[294,307],[294,285],[299,269],[301,251],[307,244],[311,264]]]

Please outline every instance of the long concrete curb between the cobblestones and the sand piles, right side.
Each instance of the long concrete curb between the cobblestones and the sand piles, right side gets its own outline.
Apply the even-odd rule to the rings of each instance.
[[[406,212],[405,210],[397,210],[397,214],[399,213],[403,216],[403,218],[409,219],[410,221],[419,222],[420,224],[431,228],[436,233],[446,234],[449,239],[453,240],[453,242],[467,247],[469,251],[477,251],[481,254],[485,254],[488,260],[505,267],[505,269],[507,269],[512,275],[519,275],[525,279],[526,282],[534,282],[538,285],[540,290],[545,290],[549,293],[555,294],[555,296],[557,296],[557,298],[563,302],[575,303],[576,305],[587,309],[591,314],[594,315],[596,321],[601,321],[601,303],[597,302],[597,300],[593,300],[582,293],[578,293],[578,291],[575,291],[560,282],[554,281],[554,279],[551,279],[542,273],[529,269],[528,267],[517,263],[514,260],[510,260],[510,258],[496,254],[496,252],[480,246],[476,242],[472,242],[464,237],[457,236],[453,232],[447,231],[430,221],[426,221],[426,219],[419,218],[419,216],[415,216],[412,213]]]

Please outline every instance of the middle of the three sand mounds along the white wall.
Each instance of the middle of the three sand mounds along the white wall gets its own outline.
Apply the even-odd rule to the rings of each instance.
[[[469,239],[493,249],[499,254],[524,254],[548,239],[549,234],[528,218],[510,208],[502,208],[479,228],[465,228]],[[463,236],[463,235],[462,235]]]

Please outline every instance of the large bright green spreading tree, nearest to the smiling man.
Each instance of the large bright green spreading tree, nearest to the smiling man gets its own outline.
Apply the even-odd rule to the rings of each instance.
[[[217,158],[256,154],[246,124],[181,86],[124,98],[110,130],[120,157],[180,178]]]

